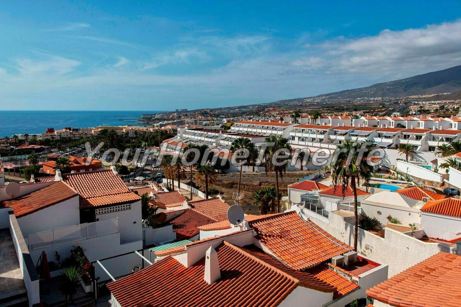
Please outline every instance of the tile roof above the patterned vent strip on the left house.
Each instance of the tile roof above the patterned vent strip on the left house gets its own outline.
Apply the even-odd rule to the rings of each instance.
[[[63,180],[80,195],[80,208],[91,208],[141,199],[112,170],[63,174]]]

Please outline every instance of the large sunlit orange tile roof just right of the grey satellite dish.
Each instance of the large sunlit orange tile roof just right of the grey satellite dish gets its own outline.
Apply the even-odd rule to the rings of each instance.
[[[257,239],[277,258],[295,270],[316,266],[352,247],[332,237],[312,221],[304,221],[296,212],[287,212],[249,222]]]

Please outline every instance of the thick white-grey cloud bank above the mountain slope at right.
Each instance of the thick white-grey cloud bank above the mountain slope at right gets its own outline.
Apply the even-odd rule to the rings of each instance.
[[[383,30],[375,36],[328,42],[337,69],[413,75],[461,64],[461,20],[421,29]]]

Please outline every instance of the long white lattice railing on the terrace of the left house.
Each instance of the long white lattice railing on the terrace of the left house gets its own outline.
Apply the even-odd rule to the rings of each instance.
[[[46,232],[29,235],[29,250],[40,249],[62,243],[70,243],[105,236],[118,232],[118,219],[100,220],[93,223],[77,224],[54,228]]]

